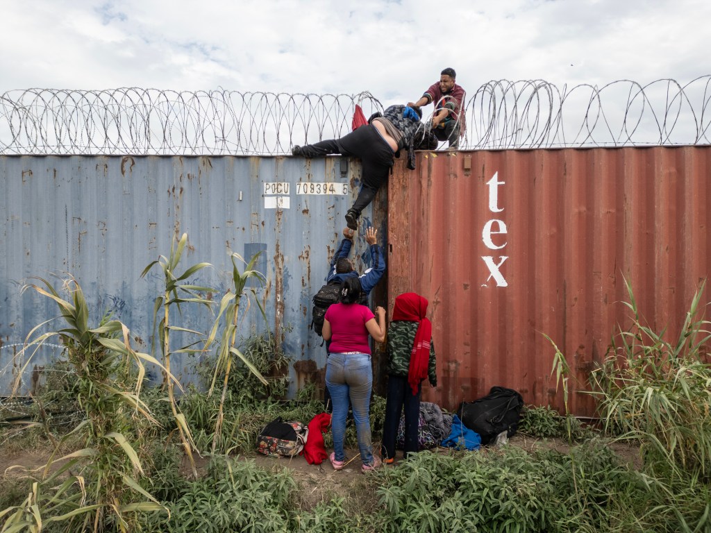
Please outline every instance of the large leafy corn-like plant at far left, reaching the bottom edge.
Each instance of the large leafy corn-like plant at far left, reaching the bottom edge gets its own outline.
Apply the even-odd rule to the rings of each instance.
[[[52,522],[65,523],[64,530],[70,532],[98,532],[109,524],[122,532],[135,530],[137,512],[164,510],[136,480],[144,475],[141,434],[156,424],[140,398],[144,362],[162,365],[131,347],[129,330],[119,321],[105,317],[90,328],[89,308],[77,281],[65,284],[71,294],[67,301],[48,281],[39,280],[44,286],[28,284],[23,290],[34,289],[55,301],[66,327],[38,334],[46,323],[36,326],[23,352],[34,354],[46,340],[60,339],[76,375],[77,403],[85,420],[58,442],[46,466],[38,469],[41,478],[23,505],[0,512],[0,518],[7,517],[2,531],[40,532]],[[55,459],[60,446],[77,435],[85,447]]]

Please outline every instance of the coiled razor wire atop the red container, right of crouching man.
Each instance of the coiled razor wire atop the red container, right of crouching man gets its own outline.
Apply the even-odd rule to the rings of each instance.
[[[466,118],[465,144],[474,149],[710,144],[711,75],[686,85],[617,80],[570,90],[542,80],[488,82]]]

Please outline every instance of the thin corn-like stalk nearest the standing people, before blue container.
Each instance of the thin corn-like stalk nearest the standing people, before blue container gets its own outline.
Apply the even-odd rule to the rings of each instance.
[[[213,328],[210,331],[210,335],[208,337],[208,343],[210,343],[216,337],[220,319],[224,316],[225,324],[223,327],[222,336],[220,338],[220,349],[218,351],[218,358],[215,364],[215,373],[213,375],[212,384],[210,384],[210,390],[208,391],[209,397],[213,394],[218,377],[222,375],[222,394],[220,397],[220,407],[218,409],[217,420],[215,421],[215,431],[211,448],[211,453],[213,454],[215,453],[215,448],[218,444],[218,437],[222,432],[225,397],[227,395],[228,379],[230,379],[230,370],[232,369],[232,361],[234,357],[239,357],[240,360],[242,360],[242,362],[250,369],[250,371],[255,376],[257,376],[260,381],[262,381],[262,383],[264,383],[265,385],[267,384],[267,380],[264,379],[264,377],[260,374],[259,370],[257,370],[257,367],[255,367],[255,365],[252,365],[252,362],[247,357],[245,357],[245,355],[242,354],[242,352],[240,352],[240,350],[238,350],[235,346],[238,325],[237,319],[240,315],[240,302],[244,298],[246,306],[245,312],[247,312],[250,308],[250,293],[252,294],[252,299],[257,304],[260,313],[262,313],[262,318],[264,318],[264,322],[267,322],[267,315],[264,313],[264,306],[262,306],[262,303],[259,301],[259,298],[257,298],[256,291],[254,289],[249,289],[249,291],[245,291],[247,287],[247,281],[249,281],[250,279],[255,278],[258,279],[260,283],[263,282],[264,275],[254,269],[255,262],[257,261],[261,253],[262,252],[259,252],[255,254],[255,257],[252,257],[250,262],[247,264],[245,271],[243,272],[240,272],[240,269],[237,267],[237,261],[239,260],[241,262],[245,262],[244,259],[242,259],[239,254],[232,254],[232,256],[230,256],[230,259],[232,259],[232,284],[234,292],[228,291],[228,293],[223,296],[222,301],[220,302],[220,312],[218,313],[218,317],[215,320]],[[269,333],[269,335],[271,335],[271,333]]]

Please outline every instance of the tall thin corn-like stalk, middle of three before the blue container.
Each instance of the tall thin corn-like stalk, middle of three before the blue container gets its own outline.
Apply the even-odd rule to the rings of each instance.
[[[163,355],[164,362],[164,384],[168,389],[168,397],[171,403],[171,409],[173,411],[173,416],[176,419],[176,424],[178,426],[178,432],[181,437],[181,442],[183,443],[183,448],[185,449],[186,456],[190,460],[191,467],[193,469],[193,475],[197,477],[198,471],[195,466],[195,459],[193,458],[193,450],[197,450],[195,443],[193,442],[193,436],[188,426],[185,416],[181,413],[178,404],[176,403],[175,392],[174,392],[174,381],[173,379],[168,379],[167,375],[171,372],[171,354],[173,353],[197,353],[203,351],[202,349],[193,348],[193,346],[200,343],[197,340],[194,343],[173,350],[171,348],[171,331],[188,333],[192,335],[201,335],[200,332],[195,330],[189,330],[186,328],[181,328],[178,325],[173,325],[171,323],[171,308],[176,307],[178,312],[181,312],[181,303],[198,303],[208,308],[211,308],[213,301],[208,298],[201,296],[200,292],[213,292],[214,289],[210,287],[203,287],[197,285],[191,285],[186,283],[186,280],[190,278],[197,271],[205,268],[205,266],[210,266],[209,263],[198,263],[193,266],[188,267],[183,274],[178,274],[178,264],[180,263],[181,257],[183,255],[183,250],[188,242],[188,234],[183,233],[180,240],[177,242],[173,239],[171,242],[171,253],[169,257],[160,256],[157,261],[151,262],[141,273],[141,277],[146,276],[148,272],[157,264],[161,267],[164,277],[164,293],[162,296],[158,296],[154,302],[154,335],[153,335],[153,350],[156,349],[156,344],[160,345],[161,352]],[[158,320],[159,312],[163,308],[163,316],[160,321]],[[156,326],[158,328],[158,339],[156,340]],[[178,383],[178,387],[180,384]]]

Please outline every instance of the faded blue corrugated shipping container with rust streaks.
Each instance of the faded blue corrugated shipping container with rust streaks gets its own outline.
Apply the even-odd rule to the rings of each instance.
[[[139,276],[149,262],[167,256],[171,238],[183,232],[189,237],[183,269],[213,264],[193,281],[215,286],[218,301],[231,283],[230,253],[249,260],[264,250],[257,269],[267,284],[257,292],[266,303],[269,327],[286,355],[304,362],[296,365],[299,370],[289,368],[290,392],[307,379],[320,379],[326,352],[308,328],[310,297],[324,283],[359,180],[360,164],[346,158],[1,156],[0,395],[9,392],[21,366],[16,344],[35,325],[58,316],[48,298],[34,291],[21,294],[29,276],[72,274],[95,321],[112,311],[146,350],[162,273],[156,267],[147,279]],[[303,188],[326,182],[347,184],[347,194],[341,194],[342,186],[336,194]],[[373,209],[383,209],[385,198],[381,193]],[[366,222],[371,213],[364,212]],[[351,257],[365,269],[370,254],[363,235],[357,235]],[[174,313],[176,325],[209,329],[213,317],[203,308],[183,311],[182,319]],[[245,315],[240,334],[252,328],[264,329],[255,309]],[[57,352],[43,350],[33,365]],[[192,379],[194,357],[176,355],[174,361],[183,381]],[[31,368],[23,392],[32,387]]]

